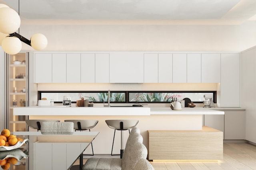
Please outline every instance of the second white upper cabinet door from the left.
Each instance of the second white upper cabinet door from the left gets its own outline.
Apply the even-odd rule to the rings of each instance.
[[[66,54],[52,54],[52,82],[66,83]]]

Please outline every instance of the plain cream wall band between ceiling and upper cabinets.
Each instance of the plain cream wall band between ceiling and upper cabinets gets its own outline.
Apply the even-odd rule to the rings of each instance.
[[[44,51],[240,52],[256,45],[255,30],[256,21],[242,25],[58,25],[56,21],[21,25],[20,34],[28,39],[34,33],[46,35]]]

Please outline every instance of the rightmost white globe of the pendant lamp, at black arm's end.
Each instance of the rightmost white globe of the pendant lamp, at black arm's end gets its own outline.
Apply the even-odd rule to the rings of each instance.
[[[47,38],[41,33],[35,33],[34,35],[32,35],[30,41],[31,46],[35,50],[42,50],[48,44]]]

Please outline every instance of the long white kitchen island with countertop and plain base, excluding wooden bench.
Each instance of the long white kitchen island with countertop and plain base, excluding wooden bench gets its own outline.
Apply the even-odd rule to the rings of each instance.
[[[171,110],[170,107],[15,107],[14,115],[28,115],[29,119],[96,119],[98,124],[91,131],[99,131],[93,141],[95,154],[110,154],[114,130],[110,129],[105,120],[137,119],[143,137],[143,143],[148,146],[148,130],[202,130],[202,115],[224,115],[224,111],[202,107],[183,108],[182,111]],[[35,129],[29,129],[35,131]],[[128,138],[124,131],[124,146]],[[103,142],[104,141],[104,142]],[[116,133],[113,153],[120,152],[120,133]],[[86,154],[90,154],[90,148]]]

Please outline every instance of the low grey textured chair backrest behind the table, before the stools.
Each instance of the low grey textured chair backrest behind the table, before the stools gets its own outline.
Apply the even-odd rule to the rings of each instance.
[[[72,135],[74,133],[74,123],[42,122],[41,133],[43,135]]]

